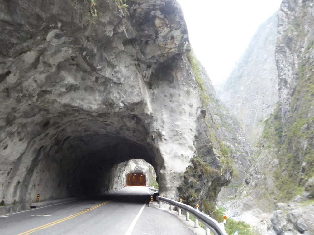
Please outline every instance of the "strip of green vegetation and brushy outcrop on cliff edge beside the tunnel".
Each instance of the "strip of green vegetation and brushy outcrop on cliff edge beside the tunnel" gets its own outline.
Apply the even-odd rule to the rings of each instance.
[[[207,135],[211,139],[216,156],[220,159],[221,169],[212,169],[207,162],[204,162],[203,157],[206,158],[207,156],[194,157],[191,160],[192,166],[188,167],[185,172],[184,184],[179,186],[178,190],[186,203],[190,205],[200,204],[201,209],[205,213],[210,213],[215,211],[214,201],[222,184],[222,182],[219,182],[218,176],[230,169],[230,175],[238,175],[234,167],[234,160],[230,158],[232,149],[226,144],[227,141],[222,139],[223,134],[219,134],[221,129],[226,130],[229,133],[232,133],[232,131],[230,124],[223,121],[225,120],[225,115],[221,110],[226,110],[226,108],[222,107],[223,105],[215,97],[214,93],[211,94],[208,92],[208,85],[206,86],[205,81],[203,80],[204,78],[202,77],[204,71],[193,51],[187,53],[187,59],[192,65],[198,83],[201,98],[206,109],[205,121],[208,126]],[[217,116],[219,121],[217,121],[215,116]],[[220,123],[220,126],[218,123]],[[211,146],[208,146],[208,148],[211,148]],[[199,195],[203,196],[199,197]]]

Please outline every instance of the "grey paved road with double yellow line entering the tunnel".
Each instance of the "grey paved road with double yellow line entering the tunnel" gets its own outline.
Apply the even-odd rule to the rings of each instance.
[[[148,207],[146,187],[0,216],[1,235],[195,235],[179,218]]]

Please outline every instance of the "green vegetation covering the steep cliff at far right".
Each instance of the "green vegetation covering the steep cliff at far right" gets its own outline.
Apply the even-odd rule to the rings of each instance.
[[[290,117],[285,127],[281,123],[279,108],[265,121],[262,138],[267,147],[278,149],[279,164],[275,178],[279,195],[290,200],[303,191],[305,183],[314,176],[314,65],[311,41],[298,66],[298,83],[290,104]]]

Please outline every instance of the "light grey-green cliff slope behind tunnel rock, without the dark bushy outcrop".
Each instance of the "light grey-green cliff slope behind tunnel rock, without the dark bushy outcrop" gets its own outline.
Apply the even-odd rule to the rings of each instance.
[[[224,177],[228,185],[235,186],[231,193],[234,196],[237,187],[242,184],[245,178],[245,169],[252,147],[247,143],[235,115],[230,113],[227,107],[217,98],[216,91],[205,68],[202,65],[199,65],[199,67],[200,77],[208,95],[205,118],[210,128],[208,135],[211,136],[214,154],[220,159],[222,168],[231,169]],[[218,192],[218,201],[230,196],[228,189],[224,186]],[[215,201],[216,199],[215,195]]]

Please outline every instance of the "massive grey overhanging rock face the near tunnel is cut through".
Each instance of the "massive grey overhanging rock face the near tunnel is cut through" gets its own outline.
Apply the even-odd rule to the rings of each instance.
[[[0,2],[0,198],[102,192],[139,158],[175,198],[194,156],[219,172],[207,178],[218,193],[230,165],[212,149],[180,7],[95,3]]]

